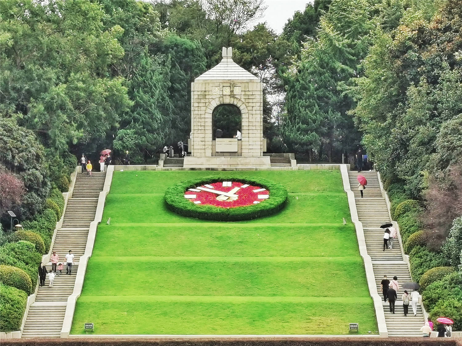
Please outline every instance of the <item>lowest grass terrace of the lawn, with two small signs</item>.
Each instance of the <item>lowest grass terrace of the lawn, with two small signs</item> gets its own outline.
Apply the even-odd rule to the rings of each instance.
[[[348,323],[359,323],[359,334],[377,334],[372,300],[356,297],[313,302],[187,302],[158,300],[84,301],[79,298],[71,334],[348,334]]]

